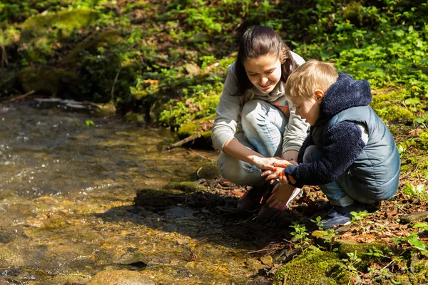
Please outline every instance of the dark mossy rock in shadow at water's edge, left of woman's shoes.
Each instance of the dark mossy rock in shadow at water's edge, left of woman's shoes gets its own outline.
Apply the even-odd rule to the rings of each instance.
[[[136,206],[163,208],[183,203],[185,198],[185,192],[180,190],[143,188],[137,191],[133,202]]]

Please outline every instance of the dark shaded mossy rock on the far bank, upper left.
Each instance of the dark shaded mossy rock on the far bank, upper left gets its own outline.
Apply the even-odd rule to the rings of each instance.
[[[25,92],[34,90],[36,93],[48,93],[55,96],[60,92],[63,93],[62,90],[67,90],[73,95],[79,94],[78,77],[71,71],[26,68],[19,71],[16,77]]]

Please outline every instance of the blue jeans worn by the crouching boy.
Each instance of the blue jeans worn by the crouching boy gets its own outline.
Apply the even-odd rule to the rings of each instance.
[[[320,160],[321,152],[315,145],[310,145],[305,150],[303,155],[303,162],[315,162]],[[343,173],[340,177],[333,182],[325,185],[320,185],[320,190],[330,200],[330,204],[346,207],[354,202],[354,200],[362,204],[372,204],[376,202],[371,197],[365,196],[365,193],[360,191],[360,183],[348,174]]]

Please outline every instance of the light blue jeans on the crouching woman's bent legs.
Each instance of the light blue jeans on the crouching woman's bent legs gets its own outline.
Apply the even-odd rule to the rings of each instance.
[[[263,100],[250,100],[243,107],[241,120],[243,133],[235,135],[240,143],[265,157],[282,155],[282,135],[288,118],[280,110]],[[225,179],[237,185],[266,183],[258,167],[225,152],[218,156],[218,168]]]

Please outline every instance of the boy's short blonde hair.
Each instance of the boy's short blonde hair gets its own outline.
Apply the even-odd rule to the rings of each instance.
[[[285,83],[285,95],[310,99],[317,89],[325,93],[338,77],[333,63],[311,59],[290,74]]]

